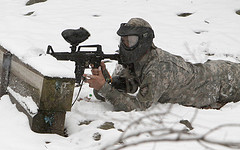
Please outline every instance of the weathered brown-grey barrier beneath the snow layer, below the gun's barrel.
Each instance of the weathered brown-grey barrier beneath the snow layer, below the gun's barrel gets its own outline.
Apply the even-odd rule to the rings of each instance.
[[[4,57],[6,53],[9,52],[0,46],[1,66],[6,59]],[[1,81],[8,83],[7,87],[1,83],[1,87],[3,87],[1,93],[8,93],[18,110],[27,115],[33,131],[63,135],[65,114],[66,111],[71,110],[75,79],[44,76],[23,63],[15,55],[11,55],[11,66],[9,67],[9,76],[7,76],[6,69],[0,67],[1,77],[4,73],[6,74]],[[26,99],[25,102],[19,100],[26,97],[29,99]],[[30,105],[27,105],[30,101],[38,107],[35,114],[29,111],[32,109]]]

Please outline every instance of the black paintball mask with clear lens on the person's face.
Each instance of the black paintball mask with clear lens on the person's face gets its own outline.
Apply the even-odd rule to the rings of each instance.
[[[121,36],[119,56],[120,64],[131,64],[150,50],[154,32],[150,27],[122,23],[117,34]]]

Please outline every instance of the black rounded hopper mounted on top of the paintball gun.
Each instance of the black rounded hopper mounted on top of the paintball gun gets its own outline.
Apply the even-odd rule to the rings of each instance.
[[[79,43],[87,40],[90,33],[83,27],[80,27],[79,29],[66,29],[62,32],[62,36],[68,43],[76,47]]]

